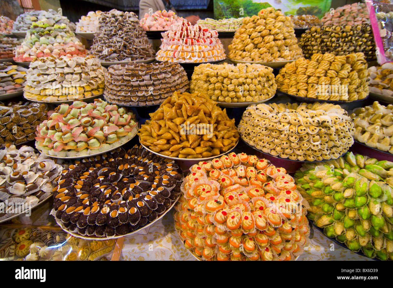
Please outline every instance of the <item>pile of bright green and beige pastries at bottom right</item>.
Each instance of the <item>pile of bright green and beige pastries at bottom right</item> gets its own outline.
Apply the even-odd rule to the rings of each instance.
[[[347,152],[303,164],[297,187],[310,203],[307,217],[352,251],[393,260],[393,162]]]

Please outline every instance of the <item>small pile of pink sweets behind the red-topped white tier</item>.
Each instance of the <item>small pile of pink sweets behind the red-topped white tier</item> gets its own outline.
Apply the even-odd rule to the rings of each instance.
[[[162,31],[168,30],[171,26],[180,26],[184,21],[187,20],[178,17],[172,10],[159,10],[152,15],[146,13],[140,23],[145,31]]]

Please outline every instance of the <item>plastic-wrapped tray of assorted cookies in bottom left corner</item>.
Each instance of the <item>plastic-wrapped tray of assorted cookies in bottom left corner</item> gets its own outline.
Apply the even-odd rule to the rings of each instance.
[[[58,228],[58,227],[57,227]],[[25,261],[108,260],[116,240],[83,240],[56,227],[0,230],[0,259]]]

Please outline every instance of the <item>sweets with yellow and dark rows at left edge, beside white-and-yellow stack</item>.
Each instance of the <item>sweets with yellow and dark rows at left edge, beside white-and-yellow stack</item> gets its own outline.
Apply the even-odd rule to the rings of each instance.
[[[22,91],[27,69],[10,62],[0,64],[0,95]]]

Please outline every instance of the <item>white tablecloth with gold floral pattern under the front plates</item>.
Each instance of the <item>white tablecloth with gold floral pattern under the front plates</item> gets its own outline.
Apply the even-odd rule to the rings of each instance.
[[[125,237],[120,260],[196,260],[174,229],[173,211],[148,227],[147,234]],[[371,260],[329,240],[311,227],[310,244],[298,260]]]

